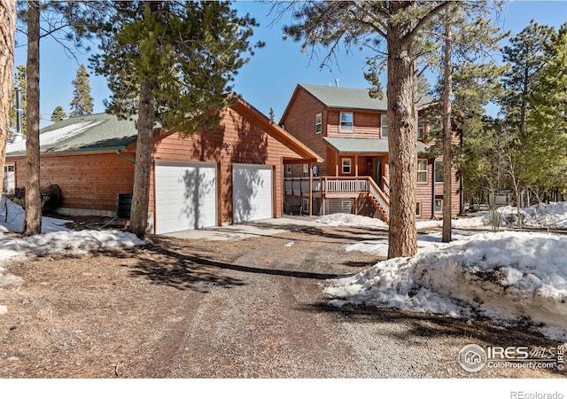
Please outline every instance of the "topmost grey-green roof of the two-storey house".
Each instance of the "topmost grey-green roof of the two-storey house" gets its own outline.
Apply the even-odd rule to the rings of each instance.
[[[385,95],[383,99],[371,98],[368,89],[315,86],[312,84],[299,84],[299,86],[330,108],[352,108],[384,112],[388,109]],[[417,106],[424,106],[432,101],[433,98],[423,95],[418,99]]]

